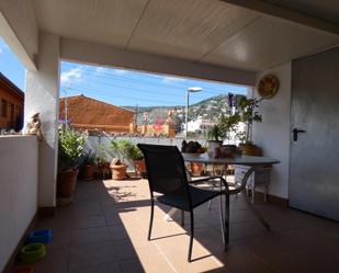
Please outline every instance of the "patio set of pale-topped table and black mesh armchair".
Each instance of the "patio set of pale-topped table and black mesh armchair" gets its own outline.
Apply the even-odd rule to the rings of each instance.
[[[256,156],[239,156],[236,153],[207,152],[205,153],[200,144],[192,141],[192,149],[183,149],[180,151],[177,146],[147,145],[138,144],[138,148],[143,151],[146,159],[148,183],[150,189],[150,221],[148,229],[148,240],[151,238],[151,228],[154,219],[155,201],[172,207],[163,217],[163,220],[170,220],[171,215],[180,209],[181,225],[184,225],[184,212],[190,214],[190,243],[188,261],[192,261],[192,247],[194,237],[194,214],[195,207],[211,202],[215,197],[219,197],[222,239],[225,250],[229,243],[229,223],[230,223],[230,196],[241,193],[245,201],[260,223],[270,230],[269,224],[252,206],[246,196],[246,185],[249,177],[257,167],[275,164],[280,161],[272,158]],[[194,145],[194,149],[193,149]],[[183,143],[183,148],[185,143]],[[195,147],[196,146],[196,147]],[[196,148],[196,149],[195,149]],[[222,147],[223,148],[223,147]],[[189,152],[188,152],[189,151]],[[197,151],[197,152],[192,152]],[[227,157],[225,156],[227,155]],[[222,156],[222,157],[221,157]],[[230,184],[222,175],[210,175],[206,178],[190,179],[185,162],[199,162],[207,164],[245,164],[248,171],[241,179],[240,183]],[[207,186],[207,187],[206,187]],[[212,189],[211,189],[212,186]],[[155,195],[159,194],[159,195]],[[224,198],[223,198],[224,197]],[[211,208],[211,206],[208,206]]]

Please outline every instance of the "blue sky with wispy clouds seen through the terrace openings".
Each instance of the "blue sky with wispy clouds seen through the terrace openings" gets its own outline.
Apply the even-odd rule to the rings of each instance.
[[[24,67],[1,38],[0,71],[24,89]],[[228,92],[246,94],[245,87],[234,84],[75,62],[63,61],[60,71],[60,96],[84,94],[115,105],[185,105],[185,92],[191,87],[202,91],[190,94],[190,104]]]

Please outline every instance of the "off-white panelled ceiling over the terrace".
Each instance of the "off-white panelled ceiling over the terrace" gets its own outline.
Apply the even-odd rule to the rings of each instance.
[[[38,27],[64,37],[252,71],[339,43],[338,35],[218,0],[32,1]],[[335,1],[269,2],[338,23]]]

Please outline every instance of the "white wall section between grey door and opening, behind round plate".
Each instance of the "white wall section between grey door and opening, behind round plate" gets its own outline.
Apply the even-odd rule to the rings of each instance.
[[[272,73],[278,77],[280,88],[270,100],[260,104],[262,123],[253,126],[253,141],[263,149],[263,155],[279,159],[271,172],[269,193],[289,198],[289,160],[290,160],[290,115],[291,115],[291,76],[292,65],[275,67],[258,73],[257,82],[264,75]],[[255,96],[260,98],[257,90]]]

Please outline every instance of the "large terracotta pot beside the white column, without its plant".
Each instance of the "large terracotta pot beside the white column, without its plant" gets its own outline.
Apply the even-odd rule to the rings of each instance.
[[[59,171],[57,179],[57,196],[70,198],[76,191],[78,169]]]

